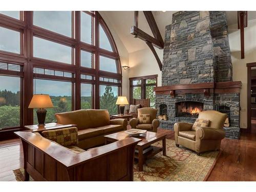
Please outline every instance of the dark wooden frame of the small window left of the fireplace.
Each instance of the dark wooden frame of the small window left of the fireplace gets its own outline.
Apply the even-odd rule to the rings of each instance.
[[[140,77],[131,77],[130,80],[130,103],[132,103],[133,99],[133,88],[140,87],[141,88],[141,95],[140,99],[146,99],[146,87],[147,86],[155,86],[157,87],[157,77],[158,75],[147,75],[147,76],[140,76]],[[156,83],[146,83],[147,79],[155,79]],[[133,84],[134,80],[140,80],[140,84]]]

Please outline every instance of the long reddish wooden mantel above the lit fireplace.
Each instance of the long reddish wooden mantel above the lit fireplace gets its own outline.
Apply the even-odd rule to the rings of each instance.
[[[154,91],[156,95],[170,95],[171,97],[174,97],[175,94],[186,93],[203,93],[205,96],[209,96],[210,93],[240,93],[241,87],[241,81],[205,82],[155,87]]]

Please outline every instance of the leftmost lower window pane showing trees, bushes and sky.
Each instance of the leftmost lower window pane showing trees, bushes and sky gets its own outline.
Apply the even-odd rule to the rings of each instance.
[[[0,76],[0,128],[19,126],[19,77]]]

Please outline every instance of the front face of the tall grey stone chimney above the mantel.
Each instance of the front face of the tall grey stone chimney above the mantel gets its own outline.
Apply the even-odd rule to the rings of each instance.
[[[208,11],[180,11],[166,27],[162,86],[214,82]],[[166,39],[167,38],[167,39]]]

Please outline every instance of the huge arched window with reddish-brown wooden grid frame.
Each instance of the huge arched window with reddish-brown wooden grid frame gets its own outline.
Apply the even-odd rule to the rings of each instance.
[[[0,11],[0,37],[0,78],[5,81],[0,93],[6,89],[18,98],[12,106],[17,110],[15,126],[33,123],[35,113],[28,105],[35,93],[52,98],[54,108],[48,110],[46,122],[55,121],[56,112],[70,110],[118,113],[120,58],[97,11]],[[20,86],[12,90],[15,78]],[[9,103],[8,98],[2,100]]]

